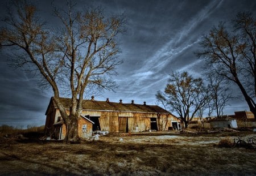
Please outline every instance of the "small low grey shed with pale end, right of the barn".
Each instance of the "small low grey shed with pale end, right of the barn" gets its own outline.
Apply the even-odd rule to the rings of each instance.
[[[228,116],[222,116],[210,120],[211,128],[237,128],[237,120]]]

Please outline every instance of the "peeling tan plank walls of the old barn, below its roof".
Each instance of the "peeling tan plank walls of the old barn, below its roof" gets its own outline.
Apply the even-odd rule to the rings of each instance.
[[[67,110],[67,113],[69,111]],[[68,113],[69,114],[69,113]],[[113,111],[82,111],[82,115],[89,115],[90,117],[100,117],[100,127],[102,131],[109,132],[127,132],[128,131],[147,131],[151,129],[151,118],[156,118],[159,131],[166,131],[168,127],[172,127],[172,121],[180,122],[179,119],[171,114],[157,114],[157,113],[131,113],[131,112],[113,112]],[[54,131],[53,123],[57,122],[57,118],[60,117],[59,110],[51,108],[48,111],[46,119],[46,127],[51,128]],[[82,125],[87,125],[86,133],[82,132]],[[87,138],[92,136],[92,123],[86,121],[86,119],[79,119],[79,136],[81,138]],[[65,125],[62,126],[61,139],[64,139],[66,133]],[[50,132],[48,131],[48,135]]]

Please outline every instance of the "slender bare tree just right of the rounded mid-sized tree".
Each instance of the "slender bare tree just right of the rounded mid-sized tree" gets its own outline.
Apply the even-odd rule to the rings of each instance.
[[[213,109],[217,117],[223,115],[223,110],[228,102],[233,99],[228,85],[224,85],[224,80],[220,76],[208,73],[209,91],[213,102]]]

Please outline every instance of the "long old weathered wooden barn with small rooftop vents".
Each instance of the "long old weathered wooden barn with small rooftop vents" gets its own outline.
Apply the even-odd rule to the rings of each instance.
[[[69,111],[70,98],[61,98],[61,101]],[[139,131],[165,131],[180,129],[180,119],[156,105],[129,104],[119,102],[84,100],[83,110],[79,119],[79,136],[87,138],[93,131],[108,132],[139,132]],[[46,110],[47,136],[55,139],[64,139],[65,124],[61,118],[52,98]]]

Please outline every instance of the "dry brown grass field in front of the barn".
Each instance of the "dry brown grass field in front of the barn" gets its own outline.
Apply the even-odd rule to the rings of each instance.
[[[1,137],[0,175],[256,175],[255,149],[217,146],[236,136],[256,134],[115,134],[80,144]]]

